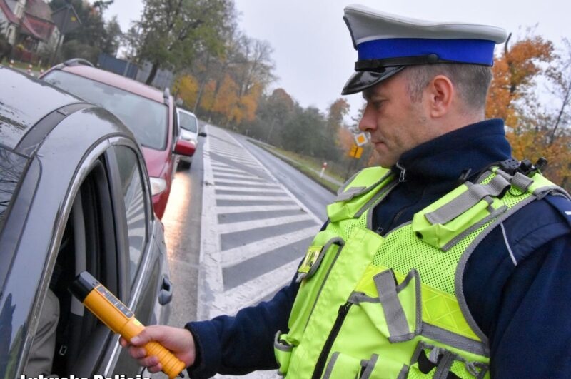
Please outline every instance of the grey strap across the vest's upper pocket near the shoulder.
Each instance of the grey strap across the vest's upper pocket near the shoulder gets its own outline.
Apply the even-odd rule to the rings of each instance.
[[[475,206],[482,198],[487,196],[498,196],[505,188],[510,186],[510,182],[507,181],[503,176],[496,175],[492,178],[490,183],[487,184],[473,184],[466,182],[468,191],[465,191],[460,196],[454,198],[452,201],[444,204],[440,208],[426,213],[425,217],[433,225],[436,223],[444,224],[454,218],[460,216],[468,209]],[[491,201],[491,199],[490,199]],[[488,201],[488,203],[490,203]]]

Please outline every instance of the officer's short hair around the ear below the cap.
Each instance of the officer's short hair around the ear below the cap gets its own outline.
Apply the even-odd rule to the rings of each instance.
[[[492,69],[479,64],[422,64],[403,70],[412,101],[420,101],[428,83],[437,75],[447,76],[458,90],[466,106],[474,110],[485,107],[487,89],[492,82]]]

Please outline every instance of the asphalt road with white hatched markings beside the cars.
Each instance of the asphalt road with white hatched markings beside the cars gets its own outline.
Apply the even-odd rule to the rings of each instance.
[[[205,131],[191,169],[176,173],[163,216],[174,326],[271,298],[293,277],[335,198],[247,138]]]

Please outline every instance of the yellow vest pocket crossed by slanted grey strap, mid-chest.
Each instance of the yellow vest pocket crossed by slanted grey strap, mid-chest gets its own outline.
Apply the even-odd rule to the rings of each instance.
[[[357,290],[361,287],[365,291],[353,293],[350,302],[358,303],[391,343],[419,335],[423,323],[418,271],[413,268],[400,283],[391,269],[373,275],[372,279],[368,285],[358,285]]]

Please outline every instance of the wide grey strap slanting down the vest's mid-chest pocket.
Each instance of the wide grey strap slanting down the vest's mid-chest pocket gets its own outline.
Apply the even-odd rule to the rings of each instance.
[[[395,277],[393,271],[387,270],[373,276],[375,287],[379,293],[379,300],[383,305],[383,313],[385,313],[385,320],[387,322],[390,342],[402,340],[399,337],[414,335],[410,333],[408,322],[406,320],[405,311],[403,306],[400,305],[398,300]]]

